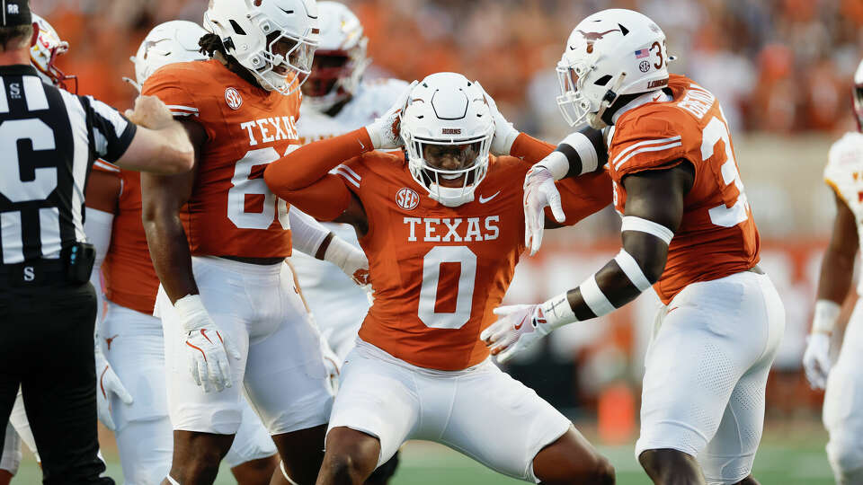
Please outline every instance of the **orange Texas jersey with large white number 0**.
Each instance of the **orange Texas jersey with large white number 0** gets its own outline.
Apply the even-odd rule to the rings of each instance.
[[[550,149],[548,150],[550,151]],[[360,198],[375,301],[360,338],[414,366],[459,370],[488,356],[479,334],[496,320],[524,250],[520,159],[492,157],[472,202],[444,207],[402,154],[370,152],[335,173]],[[606,172],[558,183],[572,225],[610,202]]]

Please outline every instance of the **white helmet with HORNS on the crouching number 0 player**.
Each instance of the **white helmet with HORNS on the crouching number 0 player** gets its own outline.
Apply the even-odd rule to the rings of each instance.
[[[430,75],[410,93],[400,127],[408,168],[429,197],[446,207],[472,201],[488,172],[494,137],[494,118],[482,88],[463,75]],[[452,168],[430,163],[432,157],[448,160]],[[463,179],[460,187],[440,184],[458,179]]]

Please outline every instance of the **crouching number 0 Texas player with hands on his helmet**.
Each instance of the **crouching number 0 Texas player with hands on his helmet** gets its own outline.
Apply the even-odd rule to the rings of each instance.
[[[430,75],[368,127],[264,172],[301,210],[353,225],[369,257],[375,300],[343,367],[318,485],[360,484],[412,438],[521,480],[614,483],[569,419],[479,340],[524,250],[520,180],[554,148],[490,102],[463,75]],[[566,224],[609,203],[606,172],[564,185]]]

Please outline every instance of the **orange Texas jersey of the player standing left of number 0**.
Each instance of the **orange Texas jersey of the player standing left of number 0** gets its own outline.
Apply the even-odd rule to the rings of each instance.
[[[264,91],[217,60],[164,66],[147,79],[144,94],[207,133],[181,211],[191,254],[289,256],[288,204],[267,188],[263,170],[299,144],[300,94]]]

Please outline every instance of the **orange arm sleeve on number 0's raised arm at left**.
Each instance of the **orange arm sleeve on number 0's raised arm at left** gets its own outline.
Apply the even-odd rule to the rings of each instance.
[[[301,146],[269,164],[263,178],[274,194],[291,205],[316,219],[331,221],[341,216],[351,202],[347,184],[360,187],[359,175],[345,175],[350,173],[349,165],[370,149],[369,134],[360,128],[341,137]],[[331,174],[334,169],[336,174]]]

